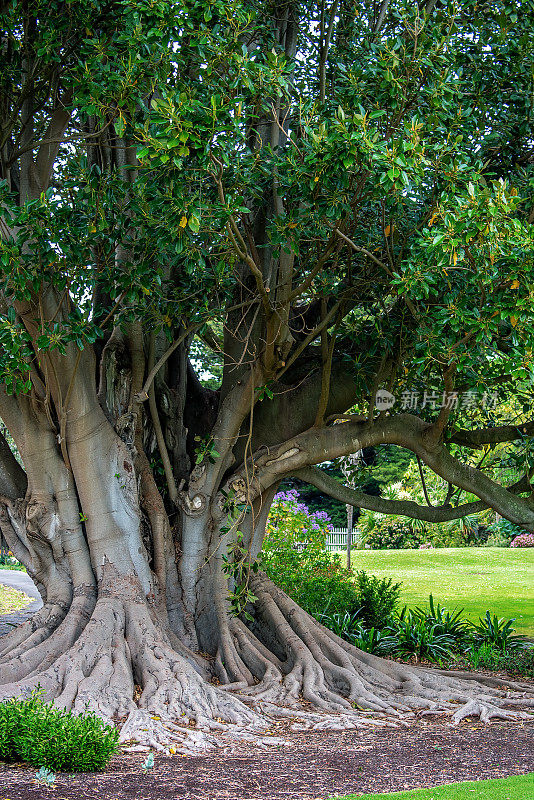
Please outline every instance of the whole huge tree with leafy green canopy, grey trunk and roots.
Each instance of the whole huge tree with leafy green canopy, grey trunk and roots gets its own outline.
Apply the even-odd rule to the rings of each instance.
[[[257,557],[287,477],[534,530],[531,467],[503,486],[465,461],[528,439],[530,409],[454,408],[530,392],[531,11],[2,4],[0,416],[24,468],[2,440],[0,524],[44,599],[2,639],[2,696],[40,686],[151,743],[300,696],[353,720],[527,702],[361,653]],[[379,388],[434,399],[377,413]],[[444,478],[444,503],[317,466],[380,444]]]

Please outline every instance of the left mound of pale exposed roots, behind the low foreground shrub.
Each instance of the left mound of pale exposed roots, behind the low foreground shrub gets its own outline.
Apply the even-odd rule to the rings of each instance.
[[[262,728],[257,712],[205,680],[198,657],[188,660],[187,648],[180,653],[171,646],[146,602],[101,596],[86,624],[78,609],[74,643],[73,623],[68,638],[62,631],[69,615],[49,638],[48,656],[43,657],[44,643],[27,654],[32,666],[41,658],[41,669],[27,670],[21,679],[18,656],[0,664],[0,699],[40,689],[58,707],[126,720],[123,740],[158,749],[172,743],[184,752],[214,746],[212,731],[230,727],[239,736]],[[142,688],[137,701],[136,684]]]

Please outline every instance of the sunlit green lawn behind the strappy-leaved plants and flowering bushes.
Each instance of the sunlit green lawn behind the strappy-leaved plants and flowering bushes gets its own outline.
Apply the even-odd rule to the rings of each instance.
[[[477,619],[486,609],[516,618],[534,636],[534,548],[461,547],[435,550],[355,550],[355,570],[402,581],[408,605],[434,599]]]

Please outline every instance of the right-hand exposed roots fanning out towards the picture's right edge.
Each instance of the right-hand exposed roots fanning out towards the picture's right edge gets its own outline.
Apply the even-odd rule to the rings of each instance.
[[[468,716],[484,722],[532,718],[520,710],[534,707],[527,684],[378,658],[324,628],[264,576],[254,581],[253,591],[258,597],[253,631],[239,621],[231,630],[240,661],[255,677],[248,688],[239,686],[241,694],[258,708],[296,709],[303,698],[330,717],[308,722],[332,727],[355,717],[357,724],[368,724],[371,714],[389,722],[421,713],[445,713],[454,722]]]

